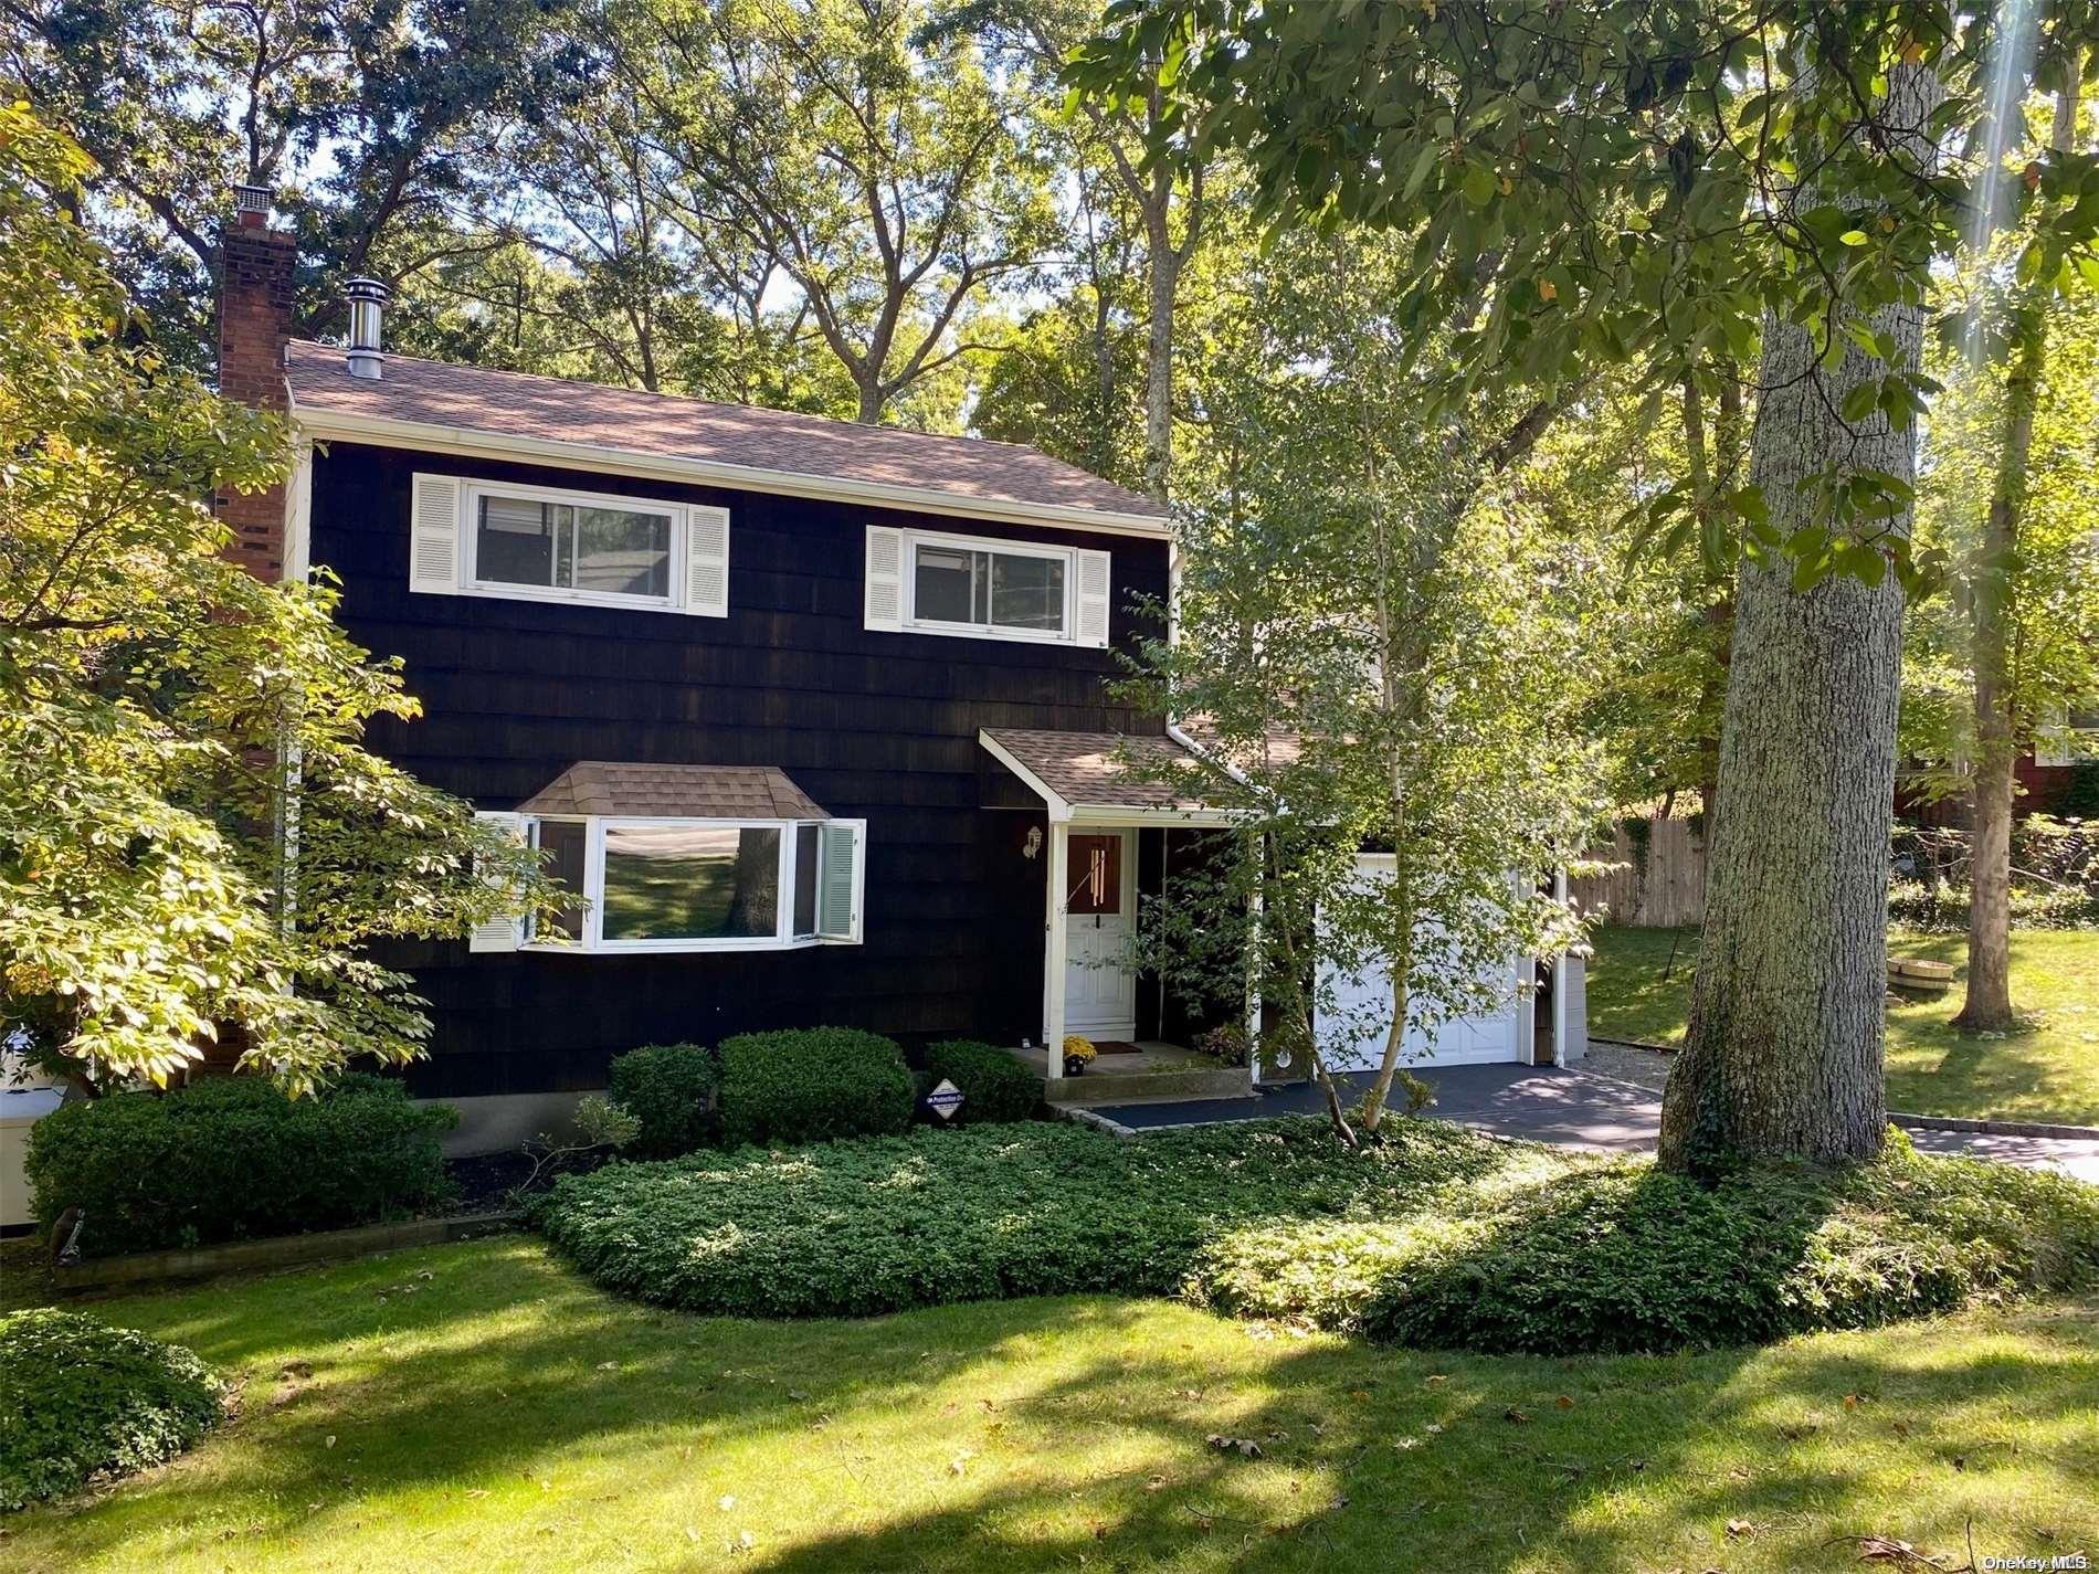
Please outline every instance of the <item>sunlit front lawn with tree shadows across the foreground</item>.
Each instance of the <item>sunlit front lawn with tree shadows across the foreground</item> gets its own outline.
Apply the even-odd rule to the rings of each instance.
[[[2099,1545],[2095,1303],[1497,1360],[1085,1297],[703,1320],[508,1236],[92,1310],[237,1377],[243,1415],[6,1517],[4,1570],[1778,1574],[1858,1568],[1868,1534],[1948,1566],[1969,1526],[1977,1555]]]

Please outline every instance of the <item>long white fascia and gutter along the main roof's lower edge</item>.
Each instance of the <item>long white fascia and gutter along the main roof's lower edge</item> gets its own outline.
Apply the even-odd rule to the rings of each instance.
[[[474,426],[441,426],[437,422],[405,422],[390,416],[363,416],[342,409],[300,405],[294,397],[292,420],[311,439],[374,443],[378,447],[422,449],[470,460],[512,460],[550,464],[565,470],[596,470],[600,474],[642,476],[649,481],[684,481],[697,485],[739,487],[783,497],[823,497],[829,502],[875,504],[919,514],[999,520],[1008,525],[1045,525],[1068,531],[1102,531],[1106,535],[1146,535],[1171,539],[1169,520],[1152,514],[1119,514],[1102,508],[1068,504],[1020,504],[1010,497],[966,497],[928,487],[896,487],[886,481],[844,481],[814,476],[802,470],[766,470],[754,464],[720,460],[688,460],[672,453],[636,453],[598,443],[569,443],[548,437],[516,437]]]

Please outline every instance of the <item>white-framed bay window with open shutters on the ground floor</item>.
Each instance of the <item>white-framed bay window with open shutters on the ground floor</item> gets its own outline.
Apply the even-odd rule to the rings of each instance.
[[[474,951],[787,951],[861,942],[867,821],[497,814],[575,894]]]

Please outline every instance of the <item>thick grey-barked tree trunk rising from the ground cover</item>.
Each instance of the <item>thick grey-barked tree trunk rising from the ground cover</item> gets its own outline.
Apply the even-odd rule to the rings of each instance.
[[[1887,120],[1921,126],[1937,97],[1933,76],[1904,69]],[[1921,363],[1918,309],[1872,325],[1893,336],[1897,367]],[[1807,329],[1765,321],[1751,478],[1786,535],[1824,518],[1801,483],[1835,455],[1847,472],[1916,472],[1914,426],[1837,416],[1849,388],[1887,367],[1853,346],[1824,371],[1818,348]],[[1727,806],[1711,827],[1692,1020],[1662,1100],[1671,1169],[1881,1152],[1900,676],[1891,573],[1795,590],[1786,562],[1742,565],[1719,758]]]

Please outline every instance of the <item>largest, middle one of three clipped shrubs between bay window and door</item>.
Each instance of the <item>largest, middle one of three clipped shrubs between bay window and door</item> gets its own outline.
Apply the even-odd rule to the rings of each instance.
[[[903,1131],[917,1106],[903,1049],[879,1033],[743,1033],[718,1054],[728,1146]]]

